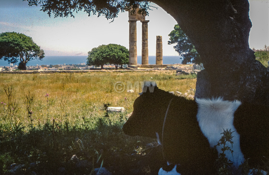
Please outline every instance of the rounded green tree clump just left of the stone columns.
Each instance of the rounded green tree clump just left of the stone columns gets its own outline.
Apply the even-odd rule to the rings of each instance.
[[[115,64],[116,69],[118,69],[118,65],[128,64],[129,51],[126,47],[118,44],[103,44],[91,49],[87,59],[87,65],[90,66],[103,68],[104,64]]]

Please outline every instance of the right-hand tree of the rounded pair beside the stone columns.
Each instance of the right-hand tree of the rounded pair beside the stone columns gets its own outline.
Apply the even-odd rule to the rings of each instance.
[[[107,49],[109,64],[115,64],[116,70],[118,65],[121,65],[122,68],[123,64],[129,63],[129,50],[126,47],[119,44],[108,44]]]

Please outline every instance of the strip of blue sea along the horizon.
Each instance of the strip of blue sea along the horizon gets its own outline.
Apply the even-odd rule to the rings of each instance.
[[[42,60],[31,60],[26,66],[41,66],[44,65],[55,65],[55,64],[80,64],[87,63],[88,56],[45,56]],[[163,56],[162,64],[181,64],[182,59],[180,56]],[[141,64],[141,56],[137,56],[137,63]],[[155,64],[156,56],[148,56],[148,63]],[[17,65],[19,64],[16,63]],[[14,66],[15,64],[13,64]],[[10,66],[8,61],[0,60],[0,66]]]

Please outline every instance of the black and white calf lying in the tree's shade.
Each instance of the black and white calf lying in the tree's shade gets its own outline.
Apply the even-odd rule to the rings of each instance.
[[[128,135],[157,138],[164,159],[172,165],[174,173],[170,174],[181,175],[215,174],[214,162],[221,148],[213,147],[223,129],[235,131],[233,155],[225,152],[234,166],[248,158],[252,166],[262,166],[263,156],[269,157],[269,108],[260,104],[222,98],[187,100],[147,82],[123,126]],[[160,169],[159,174],[165,173]]]

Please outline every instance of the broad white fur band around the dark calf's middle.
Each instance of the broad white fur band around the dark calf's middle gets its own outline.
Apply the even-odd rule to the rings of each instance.
[[[228,143],[227,146],[233,150],[225,151],[226,157],[238,167],[244,162],[244,156],[240,149],[240,136],[233,126],[234,112],[241,105],[240,101],[224,101],[222,98],[217,99],[199,99],[196,98],[198,104],[197,121],[204,136],[208,139],[211,147],[217,145],[221,138],[223,129],[231,129],[233,145]],[[223,145],[217,146],[218,153],[222,153]]]

